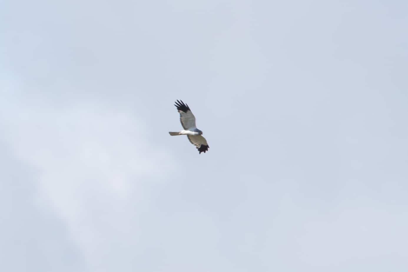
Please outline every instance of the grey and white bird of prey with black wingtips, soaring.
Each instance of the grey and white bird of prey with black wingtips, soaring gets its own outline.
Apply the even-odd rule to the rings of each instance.
[[[201,154],[202,152],[206,153],[208,151],[208,144],[204,137],[202,137],[203,132],[195,127],[195,117],[191,112],[187,104],[184,104],[182,100],[174,102],[177,108],[177,111],[180,113],[180,122],[184,130],[177,132],[169,132],[171,136],[177,135],[187,135],[188,140],[191,144],[195,145]]]

